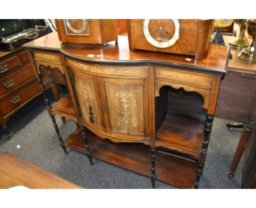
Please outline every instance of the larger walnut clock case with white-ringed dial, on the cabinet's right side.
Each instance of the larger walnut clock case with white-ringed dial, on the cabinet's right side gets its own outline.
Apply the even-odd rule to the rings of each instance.
[[[131,50],[207,57],[213,20],[128,20]]]

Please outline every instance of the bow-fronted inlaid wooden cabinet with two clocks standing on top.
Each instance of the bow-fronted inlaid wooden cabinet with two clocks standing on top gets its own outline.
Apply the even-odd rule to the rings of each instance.
[[[198,187],[228,62],[226,46],[211,45],[207,58],[194,59],[131,51],[127,36],[88,46],[61,44],[51,33],[24,47],[36,68],[63,70],[92,157],[148,176],[153,187],[155,180]],[[45,57],[40,63],[38,54]],[[80,129],[64,145],[86,153]]]

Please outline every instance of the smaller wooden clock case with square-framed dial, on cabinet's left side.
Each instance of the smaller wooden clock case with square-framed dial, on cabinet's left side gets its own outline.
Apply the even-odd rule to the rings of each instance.
[[[62,42],[107,44],[118,40],[117,20],[65,19],[55,20]]]

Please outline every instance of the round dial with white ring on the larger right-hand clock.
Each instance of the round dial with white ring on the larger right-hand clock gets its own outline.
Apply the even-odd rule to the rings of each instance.
[[[158,48],[171,47],[179,39],[179,20],[143,20],[143,34],[146,40]]]

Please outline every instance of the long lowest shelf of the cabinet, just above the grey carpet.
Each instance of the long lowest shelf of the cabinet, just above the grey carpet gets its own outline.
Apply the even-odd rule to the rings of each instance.
[[[151,162],[148,146],[138,143],[113,143],[108,139],[99,138],[90,131],[86,132],[92,157],[150,177]],[[86,152],[82,132],[79,129],[68,136],[64,145],[84,154]],[[194,161],[156,151],[155,169],[158,181],[180,188],[194,188],[197,169],[197,163]]]

